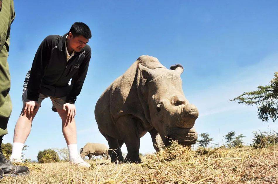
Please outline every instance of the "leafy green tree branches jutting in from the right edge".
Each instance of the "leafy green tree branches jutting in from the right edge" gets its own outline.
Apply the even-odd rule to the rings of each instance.
[[[271,118],[272,121],[276,121],[278,118],[278,72],[274,74],[270,85],[258,86],[257,91],[245,92],[230,101],[257,105],[259,120],[268,122],[268,119]]]

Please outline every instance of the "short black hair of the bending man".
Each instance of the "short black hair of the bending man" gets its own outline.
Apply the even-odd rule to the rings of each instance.
[[[90,28],[84,24],[83,22],[74,22],[72,24],[70,31],[73,34],[73,36],[84,36],[86,39],[92,38],[92,33]]]

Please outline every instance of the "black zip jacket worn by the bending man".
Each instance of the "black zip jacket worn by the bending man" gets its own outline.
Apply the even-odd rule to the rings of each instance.
[[[51,97],[67,96],[74,104],[80,94],[91,58],[91,48],[86,45],[66,61],[66,36],[50,35],[40,44],[28,81],[27,97],[37,101],[39,94]],[[71,85],[68,85],[71,79]]]

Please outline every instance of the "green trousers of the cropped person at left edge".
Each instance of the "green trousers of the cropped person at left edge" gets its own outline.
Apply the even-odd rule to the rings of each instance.
[[[12,112],[9,95],[11,77],[8,65],[11,23],[15,18],[13,0],[0,0],[0,136],[8,134],[7,125]]]

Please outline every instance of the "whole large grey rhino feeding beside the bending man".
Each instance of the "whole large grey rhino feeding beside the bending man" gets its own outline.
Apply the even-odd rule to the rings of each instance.
[[[182,72],[181,65],[166,69],[157,58],[143,55],[103,92],[95,118],[109,149],[115,150],[108,151],[112,162],[140,163],[140,137],[147,132],[156,151],[169,146],[171,139],[186,146],[196,143],[198,110],[184,96]]]

